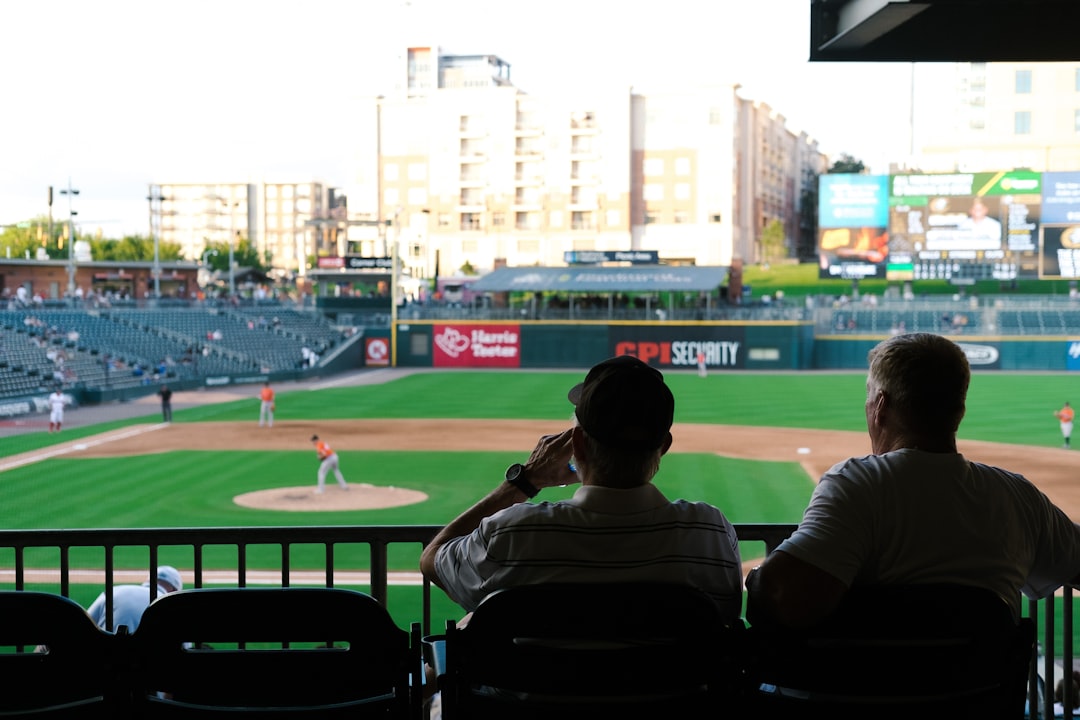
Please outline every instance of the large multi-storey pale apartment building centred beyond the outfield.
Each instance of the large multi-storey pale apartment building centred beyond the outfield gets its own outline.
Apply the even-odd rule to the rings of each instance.
[[[773,219],[792,257],[805,242],[800,214],[825,158],[738,85],[541,96],[495,56],[413,47],[405,58],[395,93],[373,98],[349,194],[393,228],[407,275],[558,266],[584,249],[753,262]],[[353,247],[380,252],[370,239]]]

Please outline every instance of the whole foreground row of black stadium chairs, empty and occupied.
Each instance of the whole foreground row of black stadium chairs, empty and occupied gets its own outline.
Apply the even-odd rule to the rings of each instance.
[[[1007,720],[1024,717],[1035,656],[1029,619],[957,585],[852,590],[811,631],[747,628],[660,583],[501,589],[422,641],[370,596],[323,587],[170,593],[131,635],[43,593],[0,592],[0,617],[16,650],[0,652],[4,717],[420,720],[423,658],[445,720]]]

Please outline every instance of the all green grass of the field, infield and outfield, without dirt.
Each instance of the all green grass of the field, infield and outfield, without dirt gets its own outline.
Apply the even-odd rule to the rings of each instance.
[[[280,421],[353,418],[523,418],[565,421],[571,406],[568,388],[581,372],[455,371],[422,372],[380,385],[321,391],[279,392]],[[862,372],[720,373],[699,378],[692,372],[669,372],[676,397],[676,422],[701,424],[809,427],[865,432]],[[1018,445],[1061,443],[1051,415],[1077,385],[1071,376],[981,373],[972,381],[968,418],[961,437]],[[1074,403],[1074,404],[1075,404]],[[134,422],[157,422],[157,411],[132,421],[9,437],[4,454],[60,440],[85,437]],[[256,431],[257,400],[246,399],[177,410],[177,423],[201,421],[251,422]],[[276,432],[278,429],[275,429]],[[717,429],[717,432],[723,432]],[[341,451],[341,467],[352,483],[373,483],[421,490],[429,500],[386,510],[337,513],[289,513],[239,507],[232,498],[248,490],[292,487],[314,481],[307,437],[291,443],[282,437],[274,452],[167,452],[120,459],[49,459],[3,473],[0,506],[8,528],[153,528],[298,525],[443,525],[497,485],[503,468],[522,460],[514,452],[395,452]],[[677,445],[677,437],[676,437]],[[836,460],[840,460],[837,458]],[[1023,468],[1017,468],[1022,471]],[[813,487],[797,463],[753,462],[708,453],[669,454],[657,485],[671,498],[710,502],[732,522],[797,522]],[[567,497],[572,488],[544,491],[545,500]],[[349,567],[367,567],[366,548],[345,549]],[[418,548],[392,547],[393,570],[415,570]],[[759,557],[758,544],[744,544],[745,558]],[[207,567],[217,560],[234,563],[234,551],[207,548]],[[322,567],[321,548],[298,548],[294,567]],[[48,557],[29,558],[49,562]],[[190,567],[184,557],[162,561]],[[0,565],[9,565],[0,556]],[[102,567],[93,551],[72,555],[75,567]],[[146,565],[136,549],[118,553],[119,567]],[[280,548],[254,548],[252,567],[274,568]],[[129,565],[131,563],[131,565]],[[75,593],[89,602],[91,587]],[[418,588],[394,588],[401,607],[395,619],[419,615]],[[435,617],[454,616],[458,609],[442,594]],[[441,621],[436,621],[441,622]]]

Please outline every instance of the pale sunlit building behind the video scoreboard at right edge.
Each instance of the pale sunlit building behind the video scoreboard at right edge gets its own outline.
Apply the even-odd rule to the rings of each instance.
[[[916,86],[919,169],[1080,169],[1080,63],[946,67],[944,87]]]

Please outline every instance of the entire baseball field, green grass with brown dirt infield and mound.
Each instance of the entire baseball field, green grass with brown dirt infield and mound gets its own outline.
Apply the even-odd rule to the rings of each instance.
[[[80,422],[59,434],[24,427],[2,439],[3,525],[442,525],[500,483],[541,434],[566,427],[566,392],[583,373],[377,370],[355,373],[354,382],[282,384],[273,427],[257,424],[257,386],[176,393],[168,425],[153,396],[132,404],[130,417],[102,423],[94,420],[110,415],[104,408],[82,408]],[[656,483],[670,498],[719,506],[732,522],[797,522],[814,478],[869,451],[864,373],[666,378],[676,398],[675,440]],[[1076,399],[1075,385],[1058,373],[976,375],[959,444],[971,459],[1025,474],[1080,518],[1078,457],[1061,447],[1053,416]],[[313,434],[338,451],[348,492],[333,477],[324,494],[312,492]],[[572,490],[545,490],[542,499]],[[390,569],[415,571],[418,552],[392,547]],[[744,559],[760,553],[747,546]],[[267,567],[275,558],[267,548]],[[253,556],[253,567],[260,559]],[[315,552],[295,559],[313,568],[320,560]],[[6,556],[2,567],[10,567]],[[77,587],[72,596],[86,603],[99,589]],[[401,606],[391,596],[395,616],[416,617],[415,595],[403,594]],[[434,617],[459,612],[436,595]]]

